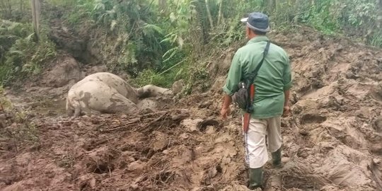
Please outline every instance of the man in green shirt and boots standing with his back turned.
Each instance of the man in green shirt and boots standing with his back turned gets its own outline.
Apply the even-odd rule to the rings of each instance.
[[[245,33],[249,39],[244,47],[238,49],[228,71],[223,87],[224,103],[221,117],[230,115],[233,94],[238,91],[238,83],[244,76],[254,71],[260,63],[269,39],[265,36],[270,31],[268,17],[263,13],[250,13],[241,20],[246,23]],[[272,164],[282,168],[280,132],[282,115],[289,115],[289,89],[291,88],[291,67],[287,53],[277,45],[270,43],[265,59],[257,76],[253,112],[250,113],[248,131],[244,132],[245,161],[249,166],[249,188],[262,188],[262,166],[267,163],[267,145],[272,153]],[[267,144],[265,143],[267,136]]]

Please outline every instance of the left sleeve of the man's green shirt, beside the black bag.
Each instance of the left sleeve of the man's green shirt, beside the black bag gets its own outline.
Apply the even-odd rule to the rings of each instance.
[[[241,70],[240,52],[236,52],[228,71],[226,84],[223,87],[223,91],[228,94],[228,96],[233,96],[233,93],[238,91],[238,83],[241,80],[242,74]]]

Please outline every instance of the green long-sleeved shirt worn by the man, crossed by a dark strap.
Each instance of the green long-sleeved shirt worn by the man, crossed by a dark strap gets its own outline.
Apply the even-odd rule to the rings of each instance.
[[[267,40],[269,39],[266,36],[254,37],[235,53],[223,87],[223,91],[229,96],[238,91],[238,83],[243,80],[243,76],[253,71],[259,64]],[[282,115],[284,91],[289,90],[292,84],[287,52],[271,43],[254,84],[254,111],[251,117],[264,119]]]

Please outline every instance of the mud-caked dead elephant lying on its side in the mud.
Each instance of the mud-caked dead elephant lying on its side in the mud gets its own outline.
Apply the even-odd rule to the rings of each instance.
[[[66,111],[69,116],[91,112],[132,113],[139,110],[139,98],[162,95],[170,96],[173,92],[153,85],[133,88],[120,76],[98,72],[71,86],[66,98]]]

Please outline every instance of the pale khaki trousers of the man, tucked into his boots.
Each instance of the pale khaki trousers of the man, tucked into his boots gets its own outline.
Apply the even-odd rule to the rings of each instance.
[[[282,146],[280,127],[281,117],[250,119],[248,132],[244,133],[245,162],[249,168],[260,168],[267,163],[267,145],[271,153]]]

